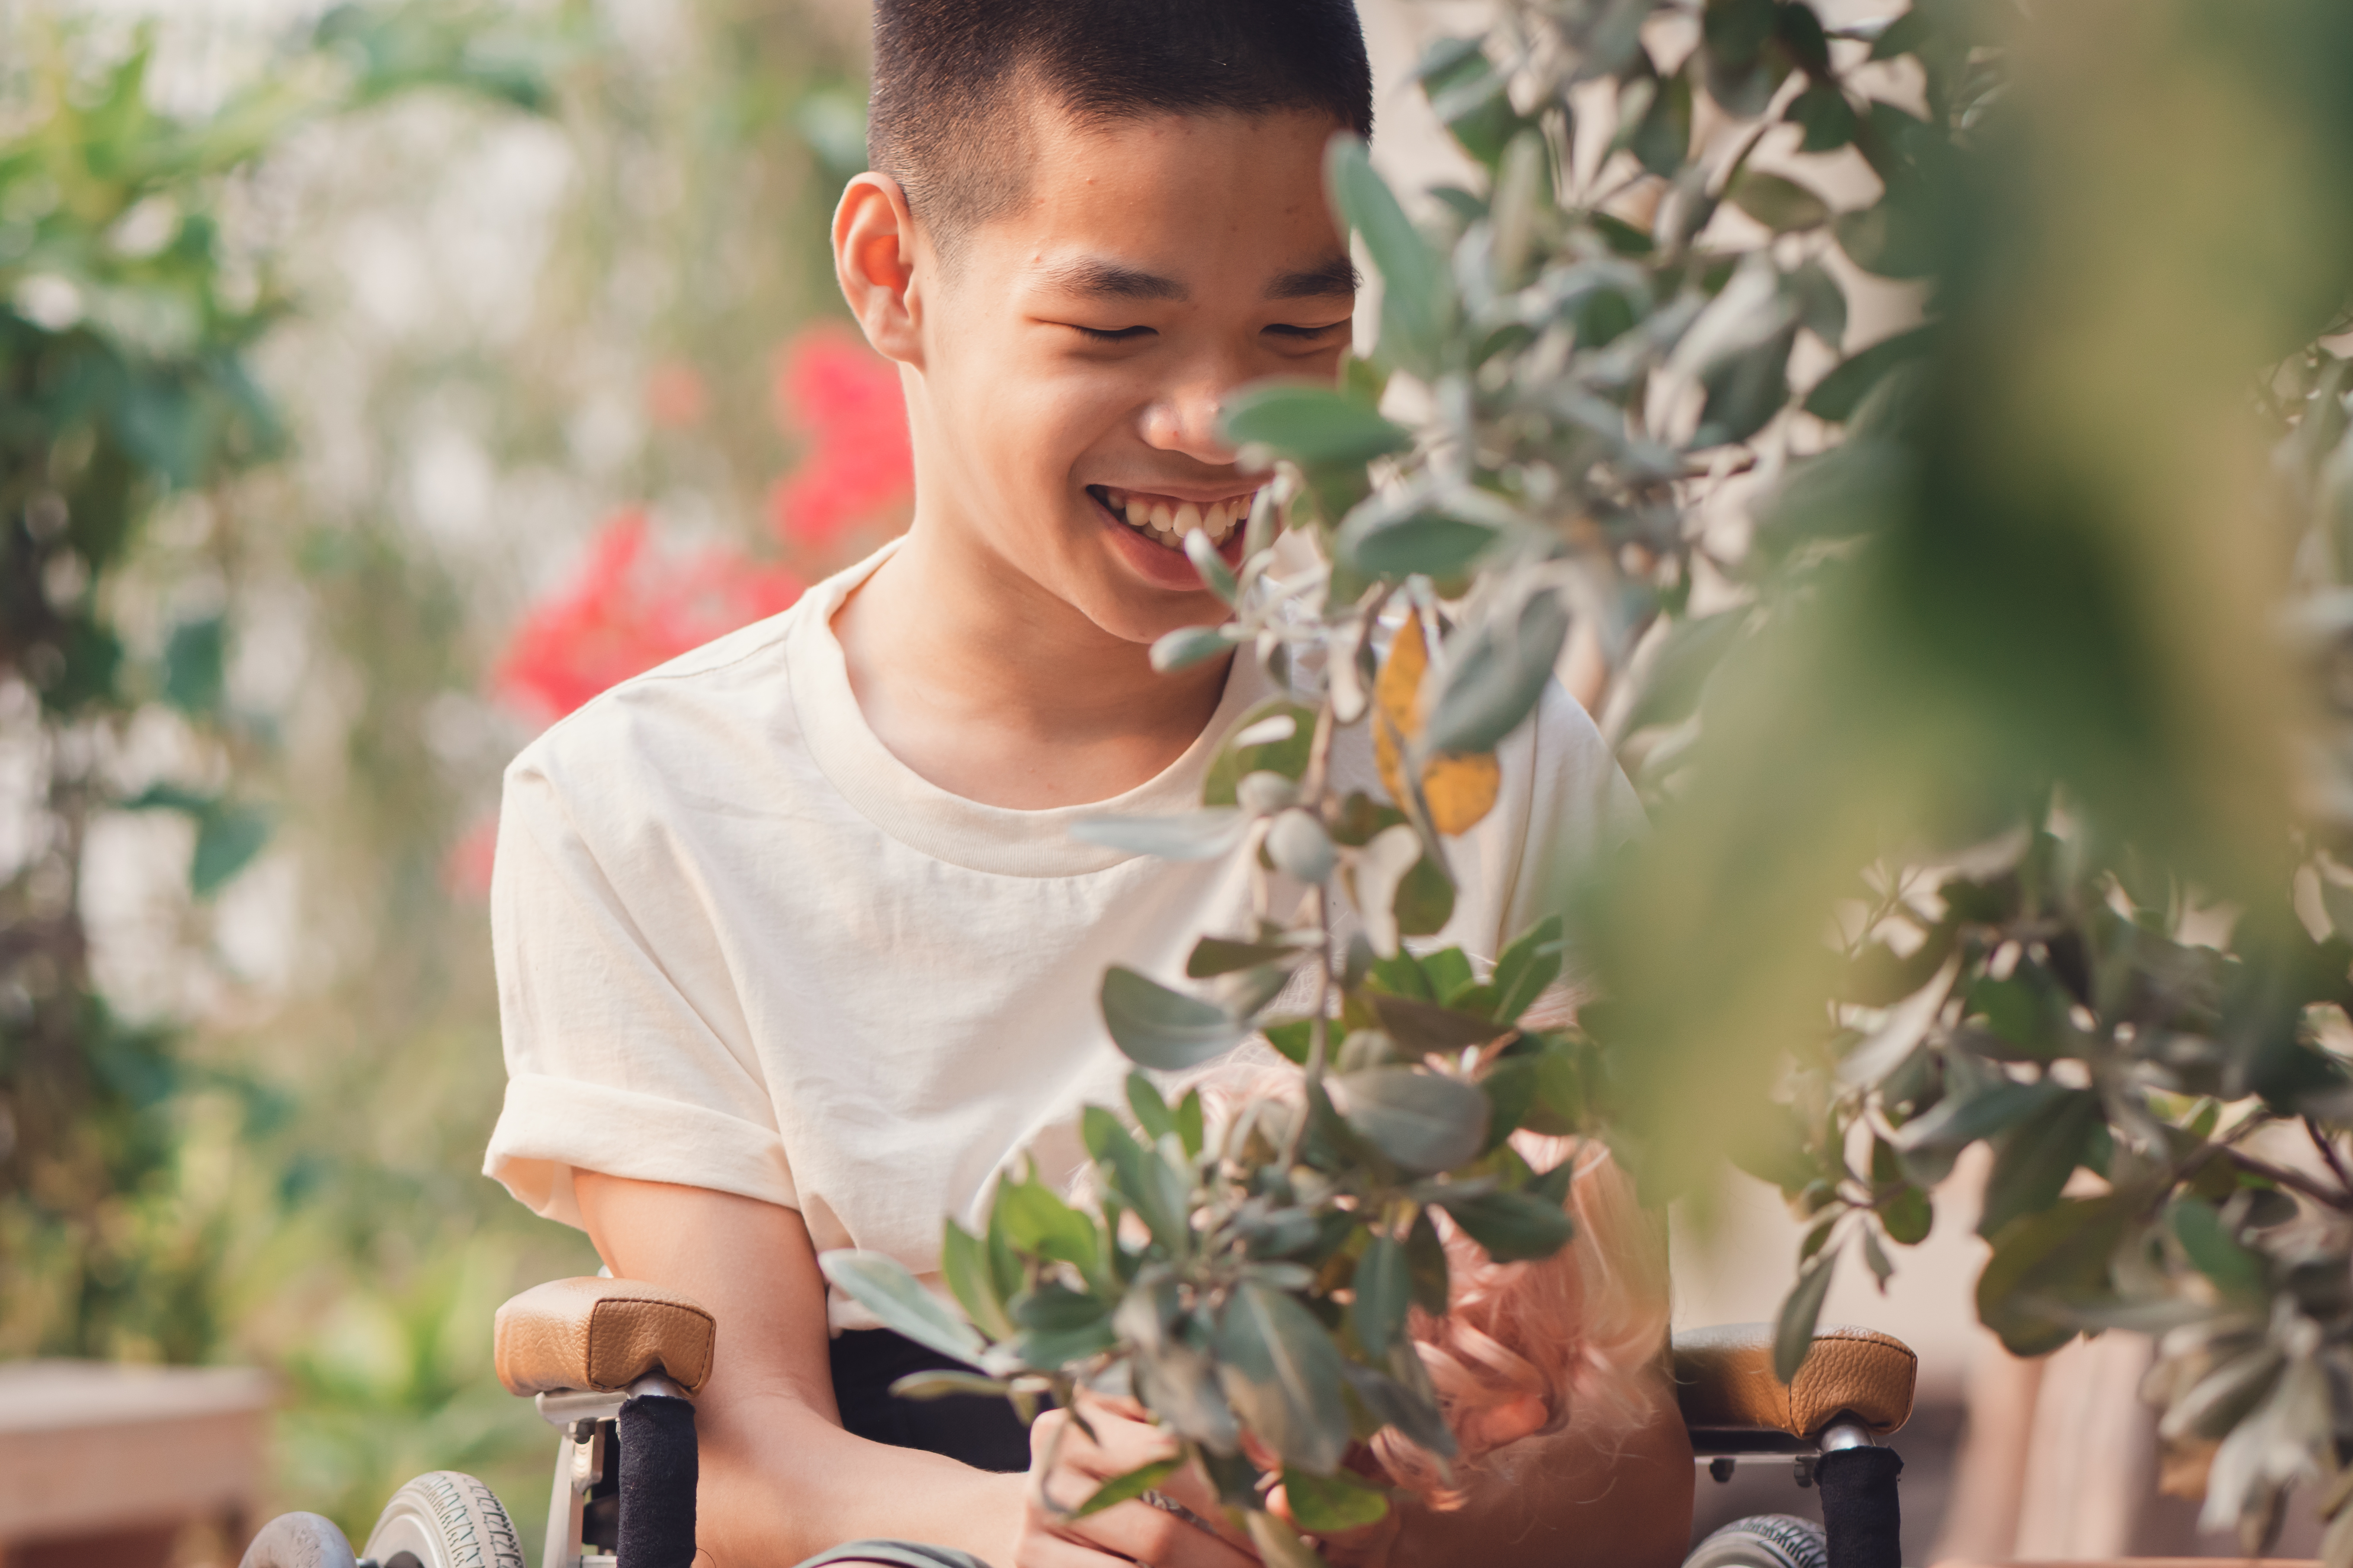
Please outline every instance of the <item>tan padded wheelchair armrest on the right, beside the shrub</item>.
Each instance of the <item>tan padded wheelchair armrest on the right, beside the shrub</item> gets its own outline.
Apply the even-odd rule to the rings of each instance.
[[[1920,1356],[1871,1328],[1817,1328],[1788,1387],[1772,1375],[1772,1324],[1725,1324],[1675,1335],[1675,1403],[1694,1429],[1817,1436],[1840,1413],[1887,1436],[1911,1420]]]

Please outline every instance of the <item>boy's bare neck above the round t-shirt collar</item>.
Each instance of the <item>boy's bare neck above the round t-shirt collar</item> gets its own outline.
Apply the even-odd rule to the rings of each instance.
[[[1226,663],[1160,675],[955,529],[915,527],[833,621],[868,729],[934,785],[995,806],[1108,799],[1200,736]]]

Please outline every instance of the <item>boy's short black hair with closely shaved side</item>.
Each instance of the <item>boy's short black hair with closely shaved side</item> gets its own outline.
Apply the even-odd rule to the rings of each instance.
[[[875,0],[866,158],[941,249],[1028,190],[1021,92],[1092,125],[1320,110],[1372,134],[1353,0]]]

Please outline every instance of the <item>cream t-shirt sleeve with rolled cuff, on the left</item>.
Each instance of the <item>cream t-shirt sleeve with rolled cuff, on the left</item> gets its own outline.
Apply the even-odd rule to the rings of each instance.
[[[574,1171],[798,1206],[692,851],[675,823],[598,804],[567,799],[536,745],[506,773],[489,907],[508,1084],[482,1171],[567,1225]]]

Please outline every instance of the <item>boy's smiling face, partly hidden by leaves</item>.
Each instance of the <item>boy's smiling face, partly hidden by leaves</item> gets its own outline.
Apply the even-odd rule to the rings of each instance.
[[[1120,639],[1221,618],[1184,534],[1235,562],[1268,477],[1235,463],[1221,404],[1266,376],[1329,381],[1348,348],[1334,129],[1035,113],[1026,205],[946,268],[918,252],[918,508]]]

